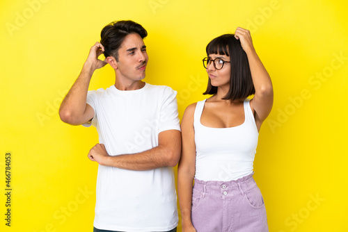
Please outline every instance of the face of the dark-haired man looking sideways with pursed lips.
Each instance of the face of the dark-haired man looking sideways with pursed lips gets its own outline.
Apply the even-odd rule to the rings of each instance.
[[[140,81],[145,78],[148,53],[143,39],[137,33],[129,34],[118,49],[118,78]]]

